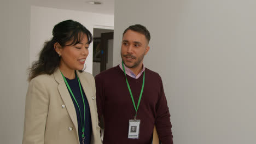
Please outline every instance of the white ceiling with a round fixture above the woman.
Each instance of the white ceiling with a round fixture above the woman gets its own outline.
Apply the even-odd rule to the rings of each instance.
[[[95,0],[102,4],[89,4],[90,0],[31,0],[31,5],[114,15],[114,0]]]

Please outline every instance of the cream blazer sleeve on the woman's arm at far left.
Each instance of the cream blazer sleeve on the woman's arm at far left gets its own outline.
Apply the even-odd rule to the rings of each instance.
[[[37,78],[31,80],[27,90],[23,144],[44,144],[49,95]]]

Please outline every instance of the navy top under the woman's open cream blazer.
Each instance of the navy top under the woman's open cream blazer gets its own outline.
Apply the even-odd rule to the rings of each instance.
[[[80,88],[79,88],[79,83],[78,83],[78,79],[77,79],[77,75],[75,75],[75,79],[69,80],[67,77],[65,77],[69,87],[71,88],[71,91],[74,94],[75,99],[77,99],[77,103],[80,107],[80,111],[82,114],[82,122],[84,122],[84,104],[85,104],[85,128],[84,128],[84,143],[85,144],[90,144],[91,143],[91,113],[90,113],[90,107],[88,104],[88,100],[85,96],[84,93],[84,89],[81,85],[82,88],[82,92],[83,92],[83,96],[84,96],[84,104],[83,104],[83,99],[82,99],[82,95],[80,92]],[[68,91],[69,92],[69,91]],[[75,107],[75,112],[77,113],[77,124],[78,124],[78,135],[79,135],[79,141],[80,143],[82,143],[82,122],[81,122],[81,118],[80,118],[80,113],[79,113],[79,109],[77,106],[77,103],[75,103],[75,100],[72,96],[72,94],[69,92],[73,103],[74,103],[74,107]]]

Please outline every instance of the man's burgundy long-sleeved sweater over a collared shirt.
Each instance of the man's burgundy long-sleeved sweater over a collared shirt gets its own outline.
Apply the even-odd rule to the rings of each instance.
[[[137,106],[142,88],[143,74],[134,79],[126,75]],[[137,111],[141,120],[139,139],[128,139],[129,119],[134,119],[135,108],[125,81],[124,71],[119,66],[103,71],[95,77],[98,115],[104,117],[103,144],[151,143],[156,125],[163,144],[172,144],[170,113],[158,73],[145,69],[145,84]]]

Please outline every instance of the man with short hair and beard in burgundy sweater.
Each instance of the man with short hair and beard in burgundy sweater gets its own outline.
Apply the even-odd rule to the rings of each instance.
[[[144,67],[150,33],[142,25],[125,29],[122,62],[95,77],[104,144],[151,143],[154,125],[163,144],[172,144],[170,113],[158,73]],[[102,119],[101,119],[102,120]],[[136,133],[131,133],[136,127]]]

